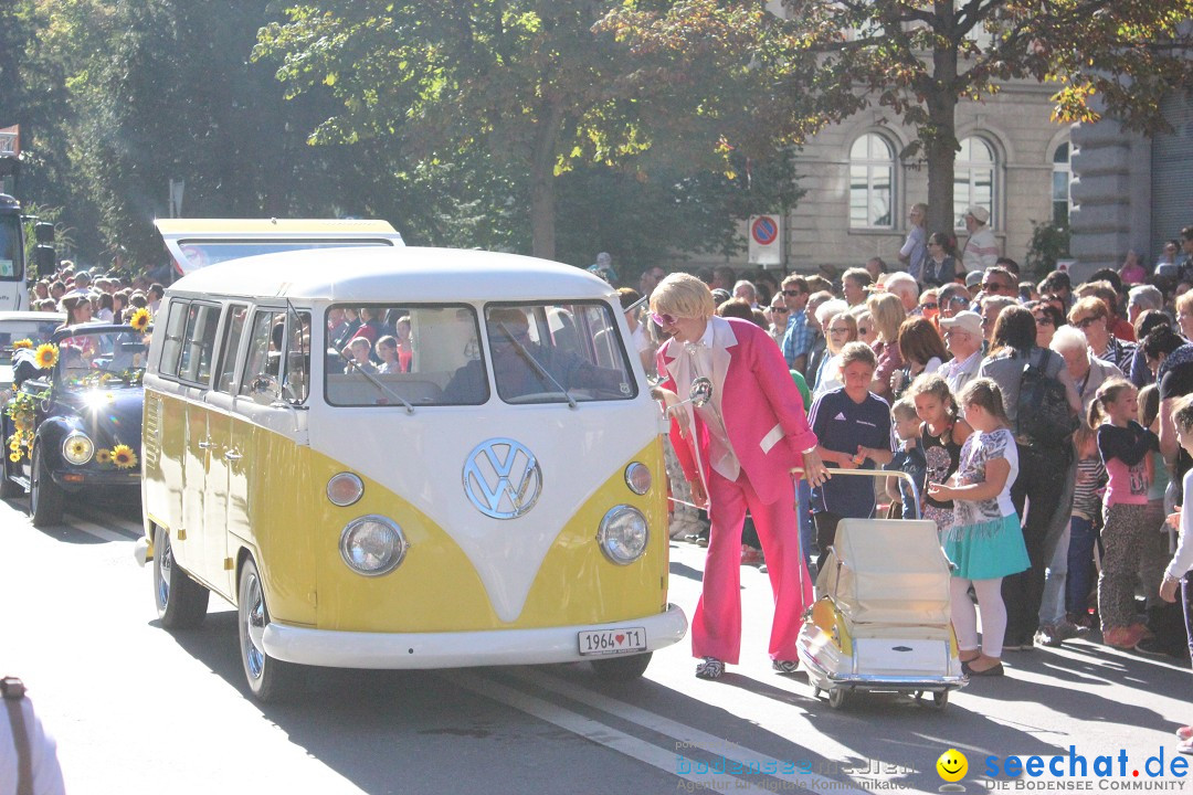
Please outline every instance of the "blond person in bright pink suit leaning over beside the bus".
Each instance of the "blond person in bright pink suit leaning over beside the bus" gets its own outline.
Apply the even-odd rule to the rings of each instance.
[[[704,590],[692,619],[696,675],[719,678],[741,647],[741,534],[746,511],[758,527],[774,591],[771,659],[796,670],[801,614],[811,580],[799,552],[790,470],[803,466],[814,485],[826,479],[799,392],[778,346],[753,323],[713,316],[712,294],[699,279],[673,273],[650,297],[654,319],[670,336],[659,349],[662,387],[687,396],[693,381],[712,383],[712,398],[694,408],[674,403],[672,442],[707,507],[712,529]]]

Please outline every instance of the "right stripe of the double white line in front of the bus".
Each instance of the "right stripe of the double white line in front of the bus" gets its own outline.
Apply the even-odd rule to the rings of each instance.
[[[736,743],[730,743],[724,738],[709,734],[707,732],[701,732],[669,718],[656,715],[655,713],[642,709],[641,707],[635,707],[633,704],[629,704],[624,701],[610,698],[608,696],[604,696],[592,690],[586,690],[585,688],[577,688],[574,682],[568,682],[567,679],[562,679],[542,670],[530,671],[527,669],[521,669],[513,672],[513,676],[542,688],[543,690],[567,696],[568,698],[588,704],[589,707],[594,707],[601,712],[617,715],[618,718],[630,721],[631,723],[636,723],[637,726],[642,726],[643,728],[670,737],[675,740],[676,750],[703,750],[716,757],[723,756],[725,759],[740,762],[743,766],[749,763],[750,765],[756,764],[759,768],[773,769],[777,772],[768,772],[766,775],[772,778],[791,782],[799,788],[821,791],[832,790],[834,793],[865,791],[863,789],[847,788],[840,781],[820,776],[814,772],[784,772],[784,766],[787,766],[789,769],[792,766],[791,762],[783,762],[765,753],[759,753],[758,751],[737,745]]]

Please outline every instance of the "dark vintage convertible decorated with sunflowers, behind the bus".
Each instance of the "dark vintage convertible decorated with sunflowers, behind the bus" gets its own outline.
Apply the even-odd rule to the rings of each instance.
[[[0,496],[27,491],[35,526],[58,522],[70,495],[140,497],[148,349],[147,329],[85,324],[16,352]]]

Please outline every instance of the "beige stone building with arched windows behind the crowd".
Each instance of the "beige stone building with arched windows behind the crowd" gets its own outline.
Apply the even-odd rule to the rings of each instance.
[[[990,210],[990,228],[1003,254],[1020,262],[1033,223],[1069,209],[1070,125],[1050,119],[1052,88],[1034,82],[1003,86],[981,103],[957,107],[963,143],[954,178],[953,230],[964,246],[962,215],[969,204]],[[885,108],[863,111],[832,125],[798,153],[805,193],[784,218],[784,269],[815,272],[859,266],[873,256],[897,263],[908,234],[908,212],[927,201],[927,168],[900,153],[915,130]],[[938,230],[928,230],[938,231]],[[746,225],[742,224],[742,236]],[[723,260],[687,260],[681,267],[749,266],[742,253]]]

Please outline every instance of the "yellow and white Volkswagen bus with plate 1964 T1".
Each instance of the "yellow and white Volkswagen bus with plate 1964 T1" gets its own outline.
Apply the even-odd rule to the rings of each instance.
[[[166,293],[142,479],[166,627],[236,605],[252,692],[293,664],[591,660],[642,673],[667,601],[659,410],[616,293],[542,260],[292,250]]]

